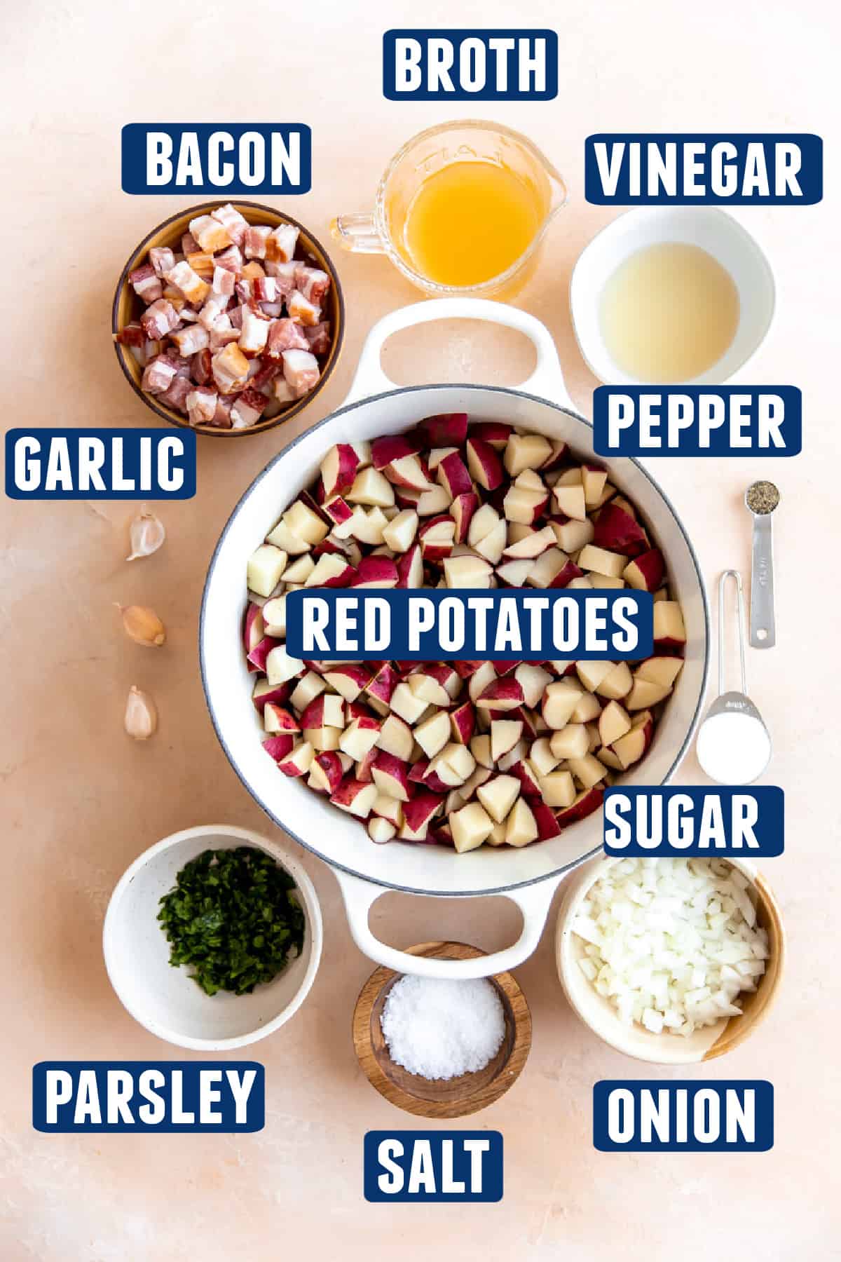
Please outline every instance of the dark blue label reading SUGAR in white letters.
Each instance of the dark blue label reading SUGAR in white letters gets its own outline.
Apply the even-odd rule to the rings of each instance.
[[[617,785],[604,795],[604,849],[623,858],[773,858],[783,853],[783,790]]]

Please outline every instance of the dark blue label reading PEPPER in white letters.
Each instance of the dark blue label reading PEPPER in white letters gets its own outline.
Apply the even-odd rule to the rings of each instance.
[[[598,456],[798,456],[797,386],[598,386]]]

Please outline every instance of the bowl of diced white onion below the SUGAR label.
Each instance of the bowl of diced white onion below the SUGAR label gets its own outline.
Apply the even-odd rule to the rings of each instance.
[[[765,1017],[786,936],[744,859],[603,857],[569,882],[555,950],[594,1034],[637,1060],[691,1065],[733,1051]]]

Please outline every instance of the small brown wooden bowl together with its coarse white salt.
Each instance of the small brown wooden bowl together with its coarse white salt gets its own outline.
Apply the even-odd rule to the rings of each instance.
[[[475,959],[465,943],[421,943],[407,954]],[[439,981],[377,968],[353,1012],[353,1045],[366,1078],[416,1117],[478,1113],[519,1076],[531,1049],[531,1013],[511,973]]]

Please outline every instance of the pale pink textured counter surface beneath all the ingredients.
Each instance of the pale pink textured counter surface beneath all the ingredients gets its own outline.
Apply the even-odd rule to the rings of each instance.
[[[373,10],[328,0],[316,18],[306,6],[281,10],[252,0],[240,10],[236,38],[232,11],[217,0],[48,0],[4,15],[6,424],[154,423],[111,351],[111,297],[135,244],[187,199],[120,191],[125,122],[309,124],[313,192],[281,204],[325,244],[330,216],[368,208],[387,159],[414,131],[460,114],[527,131],[567,178],[570,203],[518,303],[550,327],[585,413],[595,382],[575,347],[566,286],[576,255],[614,212],[584,203],[584,138],[623,127],[813,130],[823,134],[828,155],[837,148],[830,85],[837,80],[838,19],[817,0],[796,11],[782,0],[746,0],[738,28],[736,9],[721,0],[704,9],[535,3],[516,16],[535,27],[562,19],[557,101],[451,109],[382,98],[381,33],[420,20],[506,25],[514,14],[498,0],[432,0],[422,19],[406,0]],[[648,1068],[599,1044],[567,1008],[550,919],[540,950],[517,973],[533,1017],[531,1059],[512,1090],[475,1118],[504,1135],[504,1200],[483,1208],[367,1205],[363,1133],[410,1127],[412,1119],[382,1100],[357,1068],[351,1013],[373,965],[351,943],[332,873],[309,854],[304,862],[324,910],[324,958],[301,1012],[253,1049],[266,1065],[261,1133],[74,1137],[30,1127],[37,1060],[180,1055],[132,1021],[105,974],[102,915],[129,862],[166,833],[200,822],[271,832],[206,713],[197,613],[207,560],[242,488],[301,424],[342,401],[371,324],[419,297],[386,261],[343,255],[337,262],[348,327],[328,387],[289,429],[236,443],[199,440],[198,496],[160,509],[169,539],[154,558],[124,560],[131,505],[3,502],[4,1262],[251,1262],[293,1254],[304,1262],[372,1254],[420,1262],[448,1248],[464,1262],[709,1262],[748,1251],[788,1262],[832,1254],[841,1228],[828,1174],[841,1126],[833,194],[828,160],[821,206],[740,212],[768,251],[779,295],[753,377],[802,387],[804,454],[725,464],[666,459],[654,468],[709,582],[730,565],[749,573],[741,506],[748,482],[772,477],[783,495],[775,519],[778,644],[767,654],[750,651],[748,674],[774,738],[767,779],[787,793],[787,852],[765,871],[782,902],[791,963],[778,1006],[757,1036],[696,1071],[770,1079],[774,1150],[593,1150],[593,1083],[648,1076]],[[514,334],[461,324],[395,338],[385,366],[400,382],[514,384],[528,374],[530,356]],[[115,602],[154,606],[169,630],[166,647],[153,652],[129,642]],[[122,733],[131,684],[148,689],[160,709],[159,733],[146,746]],[[688,758],[682,779],[699,774]],[[511,941],[517,928],[514,912],[496,900],[397,895],[377,904],[372,924],[401,945],[456,938],[484,948]]]

